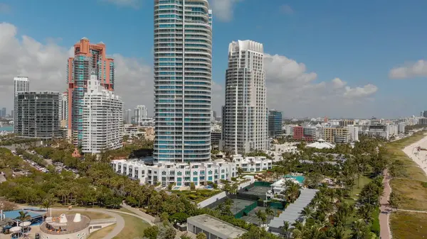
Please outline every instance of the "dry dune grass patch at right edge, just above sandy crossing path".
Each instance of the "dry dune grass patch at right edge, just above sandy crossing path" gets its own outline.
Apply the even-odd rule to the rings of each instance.
[[[423,184],[426,184],[425,187]],[[404,199],[399,209],[427,211],[426,182],[408,179],[391,179],[390,185],[393,191]]]

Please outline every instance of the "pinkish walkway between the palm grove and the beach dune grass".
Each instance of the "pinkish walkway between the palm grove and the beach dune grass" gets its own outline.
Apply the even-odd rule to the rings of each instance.
[[[381,196],[380,199],[380,211],[381,213],[379,213],[379,226],[381,228],[380,230],[380,238],[381,239],[391,239],[391,231],[390,231],[390,213],[391,213],[391,208],[389,206],[389,199],[390,199],[390,194],[391,194],[391,187],[390,187],[390,179],[391,177],[389,177],[389,172],[387,169],[384,169],[384,179],[383,179],[383,184],[384,184],[384,194]]]

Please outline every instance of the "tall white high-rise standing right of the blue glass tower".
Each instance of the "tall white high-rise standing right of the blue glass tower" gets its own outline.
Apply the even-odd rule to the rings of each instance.
[[[228,47],[223,147],[233,153],[268,149],[263,44],[238,40]]]

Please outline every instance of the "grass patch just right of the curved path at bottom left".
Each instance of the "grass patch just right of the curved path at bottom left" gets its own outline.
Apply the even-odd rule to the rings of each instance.
[[[120,216],[125,219],[125,228],[114,239],[142,238],[144,236],[144,229],[149,227],[148,223],[135,216],[123,213]]]

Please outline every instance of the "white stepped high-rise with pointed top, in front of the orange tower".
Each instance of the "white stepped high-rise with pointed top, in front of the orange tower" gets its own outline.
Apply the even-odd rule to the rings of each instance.
[[[95,72],[90,74],[83,97],[82,152],[99,153],[122,147],[123,102],[114,91],[101,86]]]

